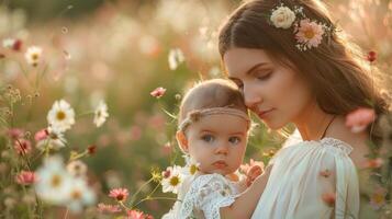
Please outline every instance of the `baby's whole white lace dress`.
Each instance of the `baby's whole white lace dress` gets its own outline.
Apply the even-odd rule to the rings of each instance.
[[[220,219],[220,208],[232,205],[244,188],[243,183],[221,174],[198,175],[183,183],[178,200],[163,219]]]

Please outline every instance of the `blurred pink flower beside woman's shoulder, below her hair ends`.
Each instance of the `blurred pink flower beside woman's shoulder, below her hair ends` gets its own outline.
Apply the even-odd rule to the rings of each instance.
[[[346,126],[351,128],[352,132],[361,132],[376,119],[376,113],[372,108],[358,108],[346,116]]]

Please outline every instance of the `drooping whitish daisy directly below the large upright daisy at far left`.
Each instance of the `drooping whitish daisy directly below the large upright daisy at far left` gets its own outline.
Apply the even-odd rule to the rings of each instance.
[[[64,134],[53,127],[47,128],[47,137],[45,139],[40,140],[35,147],[40,150],[54,149],[58,150],[64,148],[67,143],[67,140],[64,138]]]

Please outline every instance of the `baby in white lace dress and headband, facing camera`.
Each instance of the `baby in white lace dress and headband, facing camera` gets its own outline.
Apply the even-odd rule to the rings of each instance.
[[[178,200],[164,219],[251,216],[266,181],[258,180],[262,172],[258,165],[244,180],[236,174],[249,128],[247,107],[232,82],[209,80],[187,92],[176,137],[181,150],[198,163],[199,171],[182,183]]]

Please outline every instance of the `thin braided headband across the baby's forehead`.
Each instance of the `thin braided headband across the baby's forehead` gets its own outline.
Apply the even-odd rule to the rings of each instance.
[[[229,108],[229,107],[213,107],[213,108],[204,108],[204,110],[197,110],[197,111],[189,112],[187,114],[187,117],[178,126],[178,129],[184,131],[190,124],[198,122],[203,116],[221,115],[221,114],[227,114],[227,115],[240,117],[248,123],[248,128],[250,126],[249,116],[243,111],[237,108]]]

